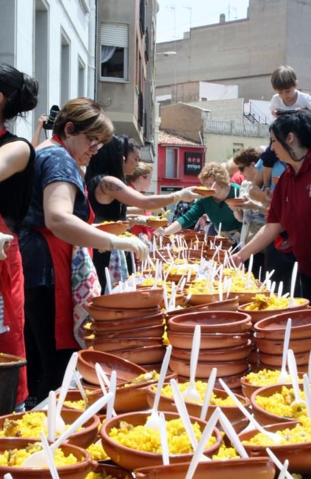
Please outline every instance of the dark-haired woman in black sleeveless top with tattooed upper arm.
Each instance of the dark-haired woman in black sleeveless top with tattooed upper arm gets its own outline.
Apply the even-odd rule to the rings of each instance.
[[[144,196],[127,186],[124,177],[133,173],[139,159],[139,146],[125,135],[121,137],[113,135],[111,142],[100,148],[97,155],[92,157],[87,167],[85,181],[95,213],[95,222],[125,220],[126,205],[154,210],[175,201],[193,201],[199,197],[191,192],[195,187],[163,196]],[[100,253],[94,250],[93,261],[103,294],[106,287],[105,268],[109,268],[113,282],[124,279],[127,274],[126,261],[116,250],[112,255],[110,252]]]

